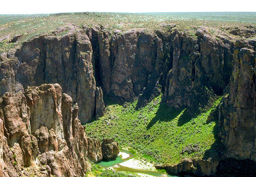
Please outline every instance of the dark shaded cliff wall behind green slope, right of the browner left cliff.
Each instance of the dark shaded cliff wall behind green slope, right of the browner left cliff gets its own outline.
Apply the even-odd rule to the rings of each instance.
[[[217,40],[206,29],[197,30],[197,39],[178,31],[128,31],[111,39],[104,30],[91,28],[87,33],[96,41],[103,93],[116,100],[138,97],[140,107],[164,90],[170,106],[193,112],[210,95],[222,95],[229,83],[234,42]]]

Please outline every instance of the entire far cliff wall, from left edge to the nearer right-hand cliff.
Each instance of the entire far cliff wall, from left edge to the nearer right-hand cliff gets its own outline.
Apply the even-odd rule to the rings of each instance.
[[[170,106],[187,107],[193,113],[223,94],[234,51],[228,37],[217,39],[205,28],[196,35],[193,39],[177,30],[59,29],[1,54],[0,91],[14,93],[27,86],[59,83],[82,108],[81,123],[104,114],[101,88],[119,102],[138,98],[138,107],[164,91]]]

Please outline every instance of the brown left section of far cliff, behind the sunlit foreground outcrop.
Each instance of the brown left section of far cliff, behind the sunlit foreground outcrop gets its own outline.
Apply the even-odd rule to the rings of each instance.
[[[85,123],[95,116],[96,109],[92,45],[84,30],[62,29],[65,30],[68,33],[63,36],[40,36],[24,42],[20,49],[8,52],[6,57],[2,55],[0,93],[59,83],[83,108],[79,110],[79,119]],[[104,104],[100,106],[104,112]]]

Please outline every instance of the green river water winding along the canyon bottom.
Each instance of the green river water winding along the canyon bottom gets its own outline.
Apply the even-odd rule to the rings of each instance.
[[[163,172],[158,172],[158,171],[150,171],[150,170],[143,170],[143,169],[134,169],[134,168],[129,168],[129,167],[124,167],[122,165],[120,165],[119,163],[122,163],[126,160],[129,160],[131,158],[133,158],[133,154],[129,151],[120,149],[120,152],[124,152],[130,155],[130,157],[126,158],[126,159],[122,159],[122,156],[118,156],[115,160],[112,161],[101,161],[100,163],[98,163],[98,165],[107,168],[107,167],[112,167],[114,165],[118,165],[118,167],[114,167],[115,170],[117,171],[121,171],[121,172],[131,172],[131,173],[141,173],[141,174],[146,174],[146,175],[151,175],[151,176],[160,176],[166,173]],[[167,174],[166,174],[167,175]],[[171,175],[167,175],[168,177],[177,177],[177,176],[171,176]]]

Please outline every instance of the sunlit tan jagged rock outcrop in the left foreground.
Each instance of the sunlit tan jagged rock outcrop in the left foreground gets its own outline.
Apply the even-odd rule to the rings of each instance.
[[[4,94],[0,102],[1,176],[85,176],[91,145],[78,119],[78,105],[72,104],[59,84]]]

